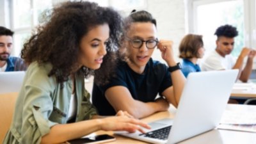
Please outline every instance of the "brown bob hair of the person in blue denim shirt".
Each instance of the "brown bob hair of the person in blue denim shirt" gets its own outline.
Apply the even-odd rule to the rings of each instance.
[[[202,35],[188,34],[182,38],[179,45],[180,58],[199,58],[198,49],[204,47]]]

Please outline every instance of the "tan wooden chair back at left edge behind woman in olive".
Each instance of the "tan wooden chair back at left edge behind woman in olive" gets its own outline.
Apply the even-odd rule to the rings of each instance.
[[[10,128],[18,93],[0,94],[0,143]]]

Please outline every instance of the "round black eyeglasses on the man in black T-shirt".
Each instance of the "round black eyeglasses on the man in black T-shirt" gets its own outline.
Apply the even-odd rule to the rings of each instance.
[[[134,47],[135,49],[140,49],[141,46],[143,45],[143,42],[146,43],[146,47],[148,49],[154,49],[156,47],[156,45],[158,44],[157,38],[156,38],[156,40],[154,40],[154,39],[152,39],[152,40],[141,40],[139,38],[134,38],[134,39],[128,38],[128,40],[131,43],[132,47]]]

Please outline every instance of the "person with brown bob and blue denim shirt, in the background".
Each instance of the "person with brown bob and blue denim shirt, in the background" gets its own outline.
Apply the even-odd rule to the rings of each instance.
[[[188,77],[190,72],[201,71],[197,60],[198,58],[203,58],[204,51],[202,35],[188,34],[181,40],[179,45],[179,57],[182,58],[181,71],[185,77]]]

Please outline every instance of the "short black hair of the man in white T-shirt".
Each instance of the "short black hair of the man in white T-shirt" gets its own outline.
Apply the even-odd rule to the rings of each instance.
[[[226,24],[216,29],[214,35],[218,37],[225,36],[228,38],[234,38],[238,35],[238,31],[236,30],[236,27]]]

